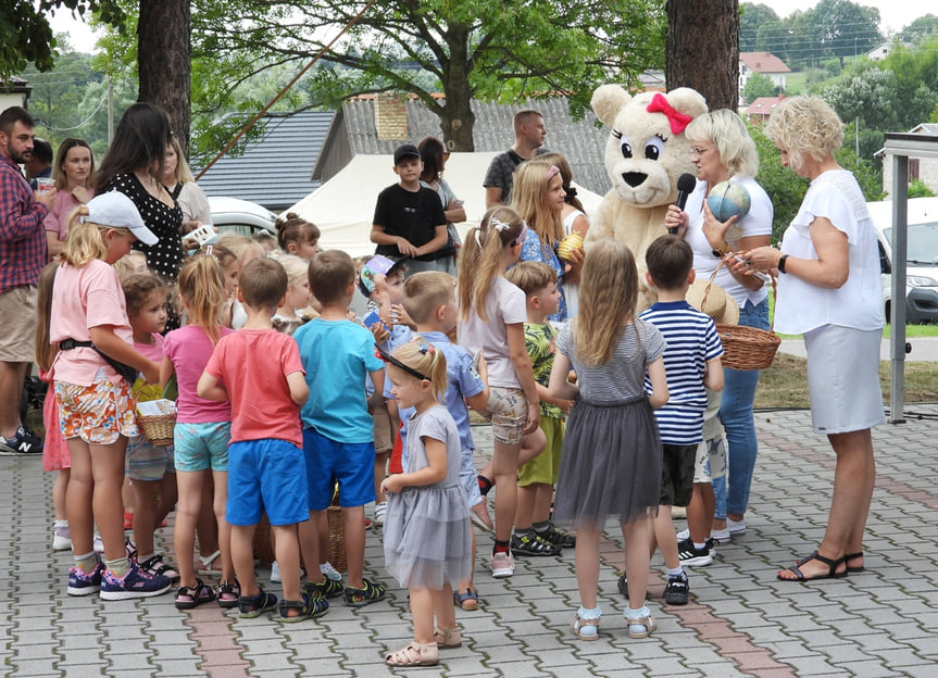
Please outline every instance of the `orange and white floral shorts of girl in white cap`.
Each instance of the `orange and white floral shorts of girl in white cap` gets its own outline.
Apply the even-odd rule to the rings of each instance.
[[[55,381],[59,426],[62,437],[80,438],[89,444],[112,444],[120,436],[138,436],[130,387],[108,377],[91,386]]]

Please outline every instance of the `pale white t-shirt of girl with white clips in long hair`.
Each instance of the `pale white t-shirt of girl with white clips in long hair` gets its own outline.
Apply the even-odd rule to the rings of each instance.
[[[521,388],[508,349],[508,325],[527,319],[527,298],[516,286],[503,277],[492,280],[485,297],[486,321],[471,309],[468,317],[459,324],[459,342],[475,355],[485,353],[488,385],[499,388]]]

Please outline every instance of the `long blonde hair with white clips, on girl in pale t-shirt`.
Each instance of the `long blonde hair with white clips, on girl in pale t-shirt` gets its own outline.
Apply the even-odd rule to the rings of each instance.
[[[500,205],[489,209],[479,225],[470,229],[459,259],[461,319],[467,319],[470,311],[475,306],[479,318],[487,322],[485,298],[499,274],[502,250],[521,242],[524,228],[524,219],[517,212]]]

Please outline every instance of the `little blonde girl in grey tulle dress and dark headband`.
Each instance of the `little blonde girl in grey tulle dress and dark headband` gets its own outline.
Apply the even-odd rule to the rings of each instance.
[[[468,503],[459,478],[460,436],[439,400],[447,387],[442,351],[416,337],[383,355],[398,406],[416,409],[408,425],[408,468],[383,484],[388,493],[385,562],[410,591],[414,640],[385,661],[426,666],[437,663],[438,644],[462,642],[452,585],[468,578],[472,547]]]

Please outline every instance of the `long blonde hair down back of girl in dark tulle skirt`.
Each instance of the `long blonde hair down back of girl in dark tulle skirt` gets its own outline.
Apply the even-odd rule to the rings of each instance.
[[[573,321],[576,356],[595,367],[612,360],[625,326],[635,319],[638,268],[631,250],[615,240],[597,242],[586,253],[581,280]]]

